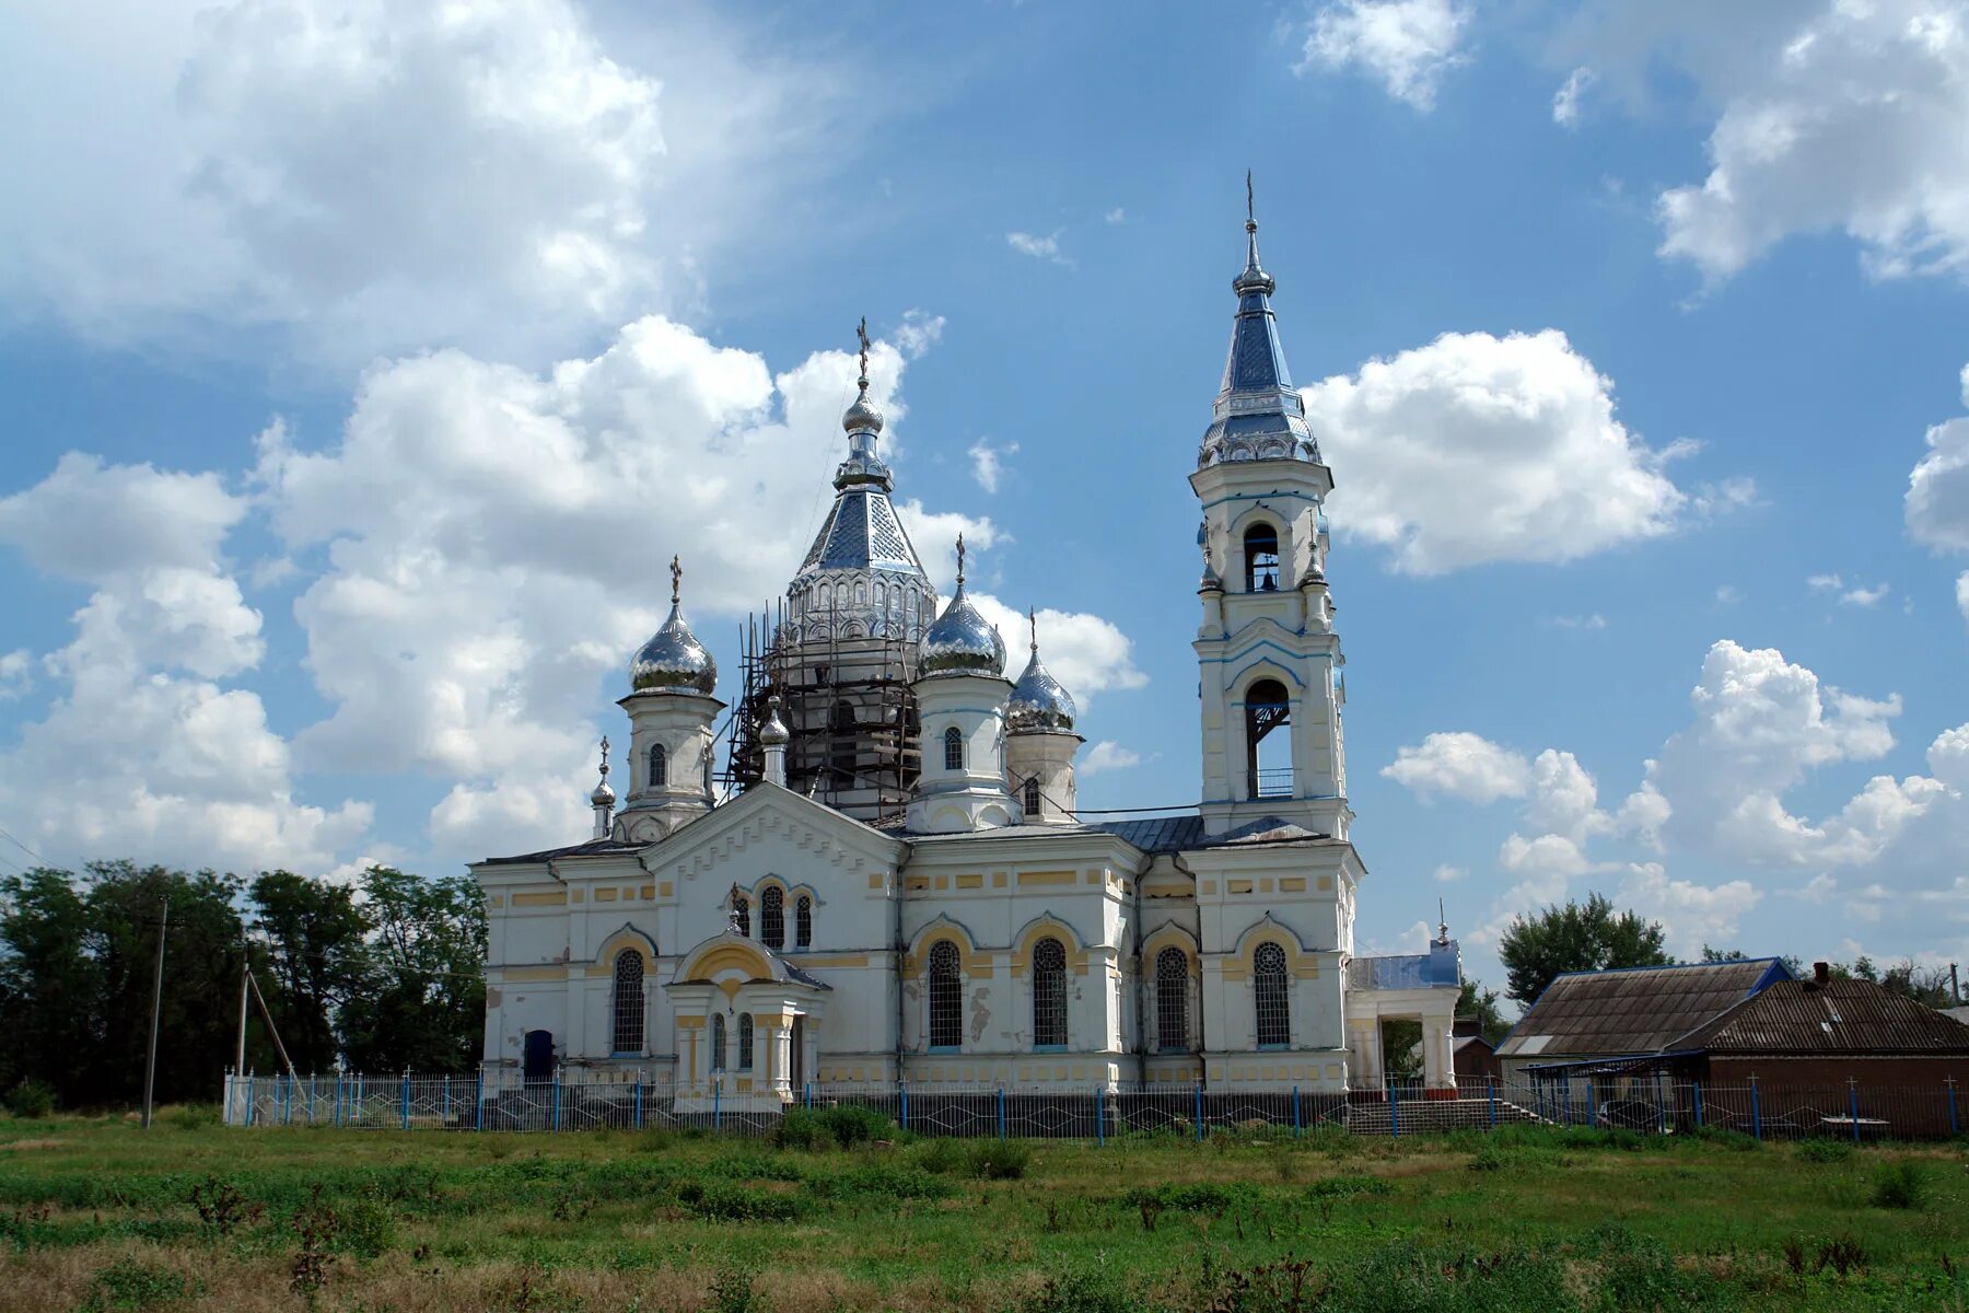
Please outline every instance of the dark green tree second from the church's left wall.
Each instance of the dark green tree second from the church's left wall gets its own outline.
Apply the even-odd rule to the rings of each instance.
[[[335,1065],[335,1014],[364,986],[368,915],[354,888],[309,880],[287,870],[252,882],[254,931],[262,945],[254,969],[280,1026],[287,1055],[301,1071]]]

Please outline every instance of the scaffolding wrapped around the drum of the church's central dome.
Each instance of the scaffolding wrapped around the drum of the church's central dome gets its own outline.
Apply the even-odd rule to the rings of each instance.
[[[748,614],[738,630],[744,693],[730,715],[719,782],[742,793],[764,778],[758,726],[778,695],[788,728],[786,787],[866,823],[902,819],[921,770],[918,644],[900,626],[860,626],[829,612],[807,634],[788,628],[786,602]]]

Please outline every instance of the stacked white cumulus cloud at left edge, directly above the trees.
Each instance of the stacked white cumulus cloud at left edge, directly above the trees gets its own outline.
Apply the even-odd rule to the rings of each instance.
[[[222,555],[246,510],[213,474],[75,453],[0,502],[0,541],[91,587],[47,715],[0,756],[0,815],[53,860],[321,870],[368,829],[368,803],[299,801],[260,697],[219,683],[266,650]]]

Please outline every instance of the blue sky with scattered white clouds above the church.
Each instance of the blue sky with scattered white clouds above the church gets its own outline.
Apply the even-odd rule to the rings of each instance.
[[[1969,6],[232,0],[0,18],[0,870],[575,839],[853,398],[1197,795],[1242,173],[1339,490],[1368,949],[1605,890],[1969,957]]]

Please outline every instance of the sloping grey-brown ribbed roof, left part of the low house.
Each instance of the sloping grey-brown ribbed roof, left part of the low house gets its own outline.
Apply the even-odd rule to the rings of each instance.
[[[1496,1045],[1498,1057],[1654,1053],[1790,972],[1774,957],[1559,976]]]

